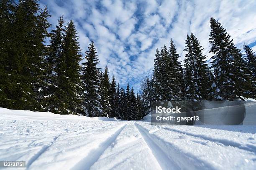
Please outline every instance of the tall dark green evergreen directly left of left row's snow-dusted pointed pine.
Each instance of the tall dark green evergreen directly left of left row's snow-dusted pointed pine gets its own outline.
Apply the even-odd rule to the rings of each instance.
[[[69,21],[65,29],[62,52],[57,67],[58,88],[56,96],[59,104],[56,106],[60,114],[77,114],[80,110],[82,97],[82,82],[79,71],[82,60],[74,22]]]

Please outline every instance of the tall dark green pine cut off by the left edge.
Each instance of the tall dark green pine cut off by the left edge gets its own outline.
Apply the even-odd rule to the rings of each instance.
[[[12,46],[11,32],[16,4],[13,0],[0,1],[0,107],[13,108],[16,98],[13,96],[15,84],[15,70],[12,69],[12,57],[10,48]],[[16,74],[16,73],[15,73]],[[18,76],[17,76],[18,77]]]

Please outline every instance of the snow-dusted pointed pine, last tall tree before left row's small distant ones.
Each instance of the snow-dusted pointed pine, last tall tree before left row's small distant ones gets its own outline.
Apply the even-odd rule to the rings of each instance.
[[[82,81],[84,82],[84,115],[90,117],[107,116],[103,115],[100,96],[100,71],[97,67],[97,51],[92,41],[88,51],[85,52],[87,62],[82,63]]]

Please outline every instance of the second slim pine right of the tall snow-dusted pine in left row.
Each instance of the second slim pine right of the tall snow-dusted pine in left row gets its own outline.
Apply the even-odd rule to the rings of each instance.
[[[110,117],[119,117],[118,115],[118,99],[117,99],[117,92],[116,92],[116,81],[115,77],[112,77],[112,81],[110,83]]]

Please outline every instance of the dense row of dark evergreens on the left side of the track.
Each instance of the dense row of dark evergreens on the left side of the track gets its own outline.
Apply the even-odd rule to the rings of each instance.
[[[139,120],[143,100],[97,67],[91,42],[82,61],[77,30],[63,16],[48,32],[47,8],[37,0],[0,2],[0,107]],[[45,45],[50,37],[50,44]]]

